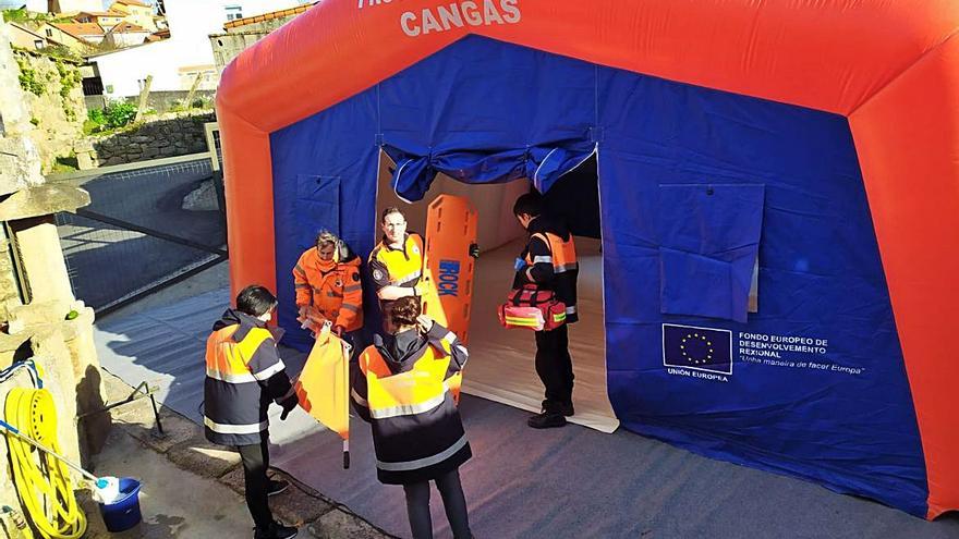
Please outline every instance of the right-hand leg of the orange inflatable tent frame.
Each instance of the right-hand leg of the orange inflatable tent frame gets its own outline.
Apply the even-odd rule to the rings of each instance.
[[[928,518],[959,506],[959,36],[849,117],[912,389]]]

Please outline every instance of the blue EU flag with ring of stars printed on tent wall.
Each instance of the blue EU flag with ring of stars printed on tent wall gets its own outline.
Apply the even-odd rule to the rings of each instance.
[[[663,365],[731,375],[732,332],[664,323]]]

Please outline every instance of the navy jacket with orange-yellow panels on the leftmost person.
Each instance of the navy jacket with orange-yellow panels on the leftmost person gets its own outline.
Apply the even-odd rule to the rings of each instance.
[[[233,310],[223,318],[206,343],[204,431],[222,445],[259,443],[270,397],[279,402],[292,387],[263,322]]]

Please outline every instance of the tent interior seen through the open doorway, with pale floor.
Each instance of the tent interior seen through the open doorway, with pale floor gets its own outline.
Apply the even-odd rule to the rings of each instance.
[[[473,303],[469,329],[470,363],[463,391],[530,412],[539,412],[543,384],[534,369],[533,334],[507,330],[496,309],[506,298],[513,279],[513,260],[523,249],[525,232],[512,213],[513,201],[531,188],[521,179],[499,184],[466,184],[437,174],[429,191],[417,203],[400,198],[391,185],[396,164],[380,152],[377,176],[377,219],[388,207],[406,216],[408,230],[426,230],[429,201],[441,194],[469,198],[478,213],[477,243],[482,255],[473,275]],[[606,387],[605,320],[603,310],[603,257],[600,248],[597,161],[590,157],[563,175],[547,192],[550,215],[567,221],[573,232],[580,264],[578,307],[580,321],[570,326],[570,354],[575,387],[572,422],[612,432],[619,420],[612,412]],[[376,226],[377,241],[380,229]]]

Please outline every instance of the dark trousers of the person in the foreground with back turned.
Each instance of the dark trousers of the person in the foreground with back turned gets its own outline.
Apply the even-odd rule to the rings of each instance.
[[[442,498],[442,509],[449,519],[456,539],[470,539],[470,517],[466,514],[466,498],[460,483],[460,470],[454,469],[439,476],[434,481]],[[413,539],[433,539],[433,518],[429,516],[429,481],[403,485],[406,493],[406,515]]]

